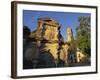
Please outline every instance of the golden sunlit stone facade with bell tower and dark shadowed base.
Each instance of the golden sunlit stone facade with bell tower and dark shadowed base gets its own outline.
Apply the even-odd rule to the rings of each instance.
[[[29,35],[24,57],[33,68],[64,67],[79,61],[73,47],[73,32],[67,28],[67,39],[60,33],[60,24],[51,18],[39,18],[37,29]]]

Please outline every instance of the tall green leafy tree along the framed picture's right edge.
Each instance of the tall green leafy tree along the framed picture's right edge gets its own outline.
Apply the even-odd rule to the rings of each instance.
[[[79,25],[76,27],[77,47],[83,52],[90,55],[91,51],[91,24],[90,16],[80,16]]]

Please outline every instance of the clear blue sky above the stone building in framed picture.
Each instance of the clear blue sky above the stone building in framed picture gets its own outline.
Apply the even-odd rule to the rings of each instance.
[[[52,11],[33,11],[23,10],[23,25],[28,26],[31,31],[37,28],[37,19],[50,17],[61,25],[61,34],[66,40],[66,30],[72,28],[73,35],[76,35],[76,26],[79,25],[79,16],[91,16],[89,13],[73,13],[73,12],[52,12]]]

